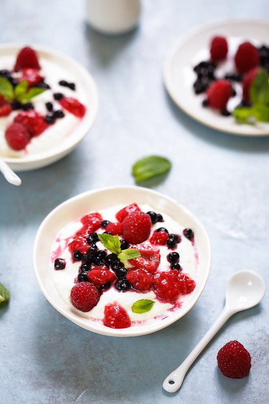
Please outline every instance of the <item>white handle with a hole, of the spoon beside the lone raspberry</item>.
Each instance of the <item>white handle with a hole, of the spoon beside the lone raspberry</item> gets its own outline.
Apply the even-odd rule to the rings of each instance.
[[[191,364],[195,361],[197,356],[201,353],[201,351],[213,338],[213,336],[233,314],[234,311],[230,310],[227,306],[224,307],[218,319],[209,328],[207,333],[203,336],[200,342],[198,342],[191,353],[186,357],[185,361],[174,372],[170,373],[170,375],[165,379],[163,387],[166,391],[174,393],[181,387],[183,379]]]

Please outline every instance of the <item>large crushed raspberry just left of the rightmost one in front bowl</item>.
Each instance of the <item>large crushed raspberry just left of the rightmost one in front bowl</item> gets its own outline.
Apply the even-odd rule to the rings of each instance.
[[[159,272],[154,275],[153,289],[160,300],[165,302],[175,301],[180,294],[177,274],[170,271]]]

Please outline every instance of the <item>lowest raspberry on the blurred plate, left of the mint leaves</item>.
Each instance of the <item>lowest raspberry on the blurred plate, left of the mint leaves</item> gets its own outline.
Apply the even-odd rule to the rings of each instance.
[[[229,80],[223,78],[213,81],[206,89],[208,105],[216,109],[225,109],[232,96],[232,86]]]

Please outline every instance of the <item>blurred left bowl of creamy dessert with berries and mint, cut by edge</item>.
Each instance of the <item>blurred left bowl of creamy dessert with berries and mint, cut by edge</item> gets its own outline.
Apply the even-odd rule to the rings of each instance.
[[[97,109],[95,82],[75,60],[40,46],[0,46],[0,156],[15,171],[70,153]]]

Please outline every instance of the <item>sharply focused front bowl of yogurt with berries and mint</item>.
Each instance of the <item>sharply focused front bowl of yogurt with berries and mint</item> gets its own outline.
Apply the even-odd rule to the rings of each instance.
[[[206,284],[211,249],[195,216],[135,187],[69,199],[41,223],[33,251],[47,300],[103,335],[152,333],[184,316]]]

